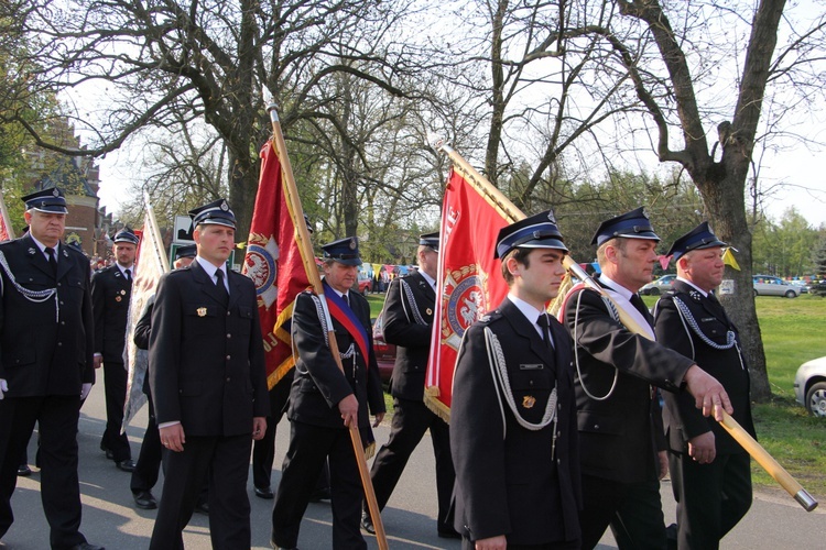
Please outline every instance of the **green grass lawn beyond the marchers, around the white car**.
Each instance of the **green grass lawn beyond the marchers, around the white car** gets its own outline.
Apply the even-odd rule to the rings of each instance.
[[[378,316],[384,295],[371,294],[367,298],[370,316]],[[653,307],[657,298],[644,296],[643,300]],[[826,298],[758,296],[756,300],[774,394],[772,403],[752,408],[758,440],[806,491],[826,503],[826,418],[809,416],[794,400],[793,386],[801,364],[826,355]],[[393,399],[385,395],[384,402],[388,415],[392,414]],[[756,488],[785,494],[757,462],[751,464]]]

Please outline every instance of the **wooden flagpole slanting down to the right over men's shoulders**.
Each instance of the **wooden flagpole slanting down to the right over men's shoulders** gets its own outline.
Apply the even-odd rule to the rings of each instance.
[[[506,197],[499,189],[493,187],[493,184],[488,182],[485,176],[479,174],[472,166],[470,166],[470,164],[468,164],[468,162],[465,161],[461,155],[456,153],[453,147],[445,144],[442,140],[434,141],[432,143],[432,146],[437,151],[444,151],[445,154],[447,154],[447,156],[453,161],[454,167],[456,169],[459,169],[463,174],[467,175],[465,179],[470,185],[472,185],[482,197],[485,197],[488,204],[490,204],[499,211],[499,213],[510,220],[511,223],[525,217],[525,215],[522,213],[522,211],[519,210],[519,208],[517,208],[508,199],[508,197]],[[594,280],[594,278],[591,278],[591,276],[585,272],[585,270],[579,267],[579,264],[577,264],[574,258],[570,257],[570,254],[565,255],[563,265],[565,265],[565,267],[567,267],[574,275],[579,277],[579,279],[582,279],[583,283],[585,283],[588,287],[598,292],[602,297],[611,300],[611,302],[616,306],[617,311],[619,312],[620,322],[629,331],[651,339],[648,331],[643,330],[640,323],[638,323],[622,308],[622,306],[613,301],[608,293],[606,293],[602,287],[600,287]],[[769,454],[769,452],[763,449],[763,447],[758,443],[754,438],[752,438],[737,420],[731,418],[731,416],[721,408],[720,413],[722,413],[722,420],[720,420],[720,425],[722,426],[722,428],[728,431],[729,435],[735,438],[735,440],[740,443],[740,446],[746,449],[749,454],[751,454],[751,457],[758,462],[758,464],[760,464],[769,473],[769,475],[774,477],[774,481],[780,483],[780,485],[792,497],[794,497],[794,499],[797,501],[797,503],[803,506],[806,512],[812,512],[813,509],[815,509],[817,507],[817,501],[815,501],[812,495],[809,495],[808,492],[803,488],[803,486],[797,483],[797,481],[792,477],[792,475],[782,465],[780,465],[780,463],[774,460],[774,458]]]

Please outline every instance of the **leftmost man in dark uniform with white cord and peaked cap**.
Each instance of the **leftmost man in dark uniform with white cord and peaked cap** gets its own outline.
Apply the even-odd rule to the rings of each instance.
[[[63,191],[23,201],[29,233],[0,244],[0,537],[14,520],[11,496],[36,421],[52,548],[94,550],[78,531],[77,479],[80,400],[95,382],[89,261],[61,243]]]

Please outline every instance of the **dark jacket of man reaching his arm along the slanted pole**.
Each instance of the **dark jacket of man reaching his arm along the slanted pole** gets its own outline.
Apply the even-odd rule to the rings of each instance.
[[[683,376],[694,362],[626,329],[594,290],[574,290],[564,308],[578,355],[583,474],[620,483],[655,481],[660,472],[656,451],[664,450],[665,442],[659,399],[651,386],[684,392]],[[598,400],[586,389],[595,397],[611,395]]]

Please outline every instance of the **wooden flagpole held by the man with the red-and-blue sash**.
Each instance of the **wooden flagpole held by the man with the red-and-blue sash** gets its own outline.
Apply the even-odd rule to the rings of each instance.
[[[267,98],[264,99],[267,101]],[[284,180],[284,195],[287,199],[287,209],[290,210],[290,217],[293,219],[293,226],[295,227],[295,241],[298,244],[301,251],[302,263],[304,264],[304,271],[309,277],[309,283],[313,285],[313,290],[320,298],[322,308],[324,309],[324,317],[329,327],[327,333],[327,341],[329,342],[329,351],[336,361],[336,365],[344,373],[344,365],[341,364],[341,358],[338,354],[338,342],[336,341],[336,333],[333,330],[333,319],[327,308],[327,299],[324,296],[324,286],[322,285],[322,277],[318,275],[318,268],[315,265],[313,245],[309,240],[309,231],[307,224],[304,221],[304,210],[301,206],[301,198],[298,197],[298,189],[295,185],[295,178],[293,177],[293,168],[290,164],[290,156],[286,154],[286,144],[284,143],[284,135],[281,133],[281,122],[279,121],[279,113],[276,107],[272,101],[268,101],[267,110],[270,113],[270,121],[272,122],[272,144],[275,147],[275,152],[279,155],[281,162],[281,175]],[[368,358],[365,358],[368,361]],[[359,405],[360,406],[360,405]],[[384,534],[384,525],[381,522],[381,512],[379,510],[379,503],[376,499],[376,491],[373,490],[372,481],[370,480],[370,471],[367,469],[367,458],[365,457],[365,448],[361,443],[361,435],[359,433],[358,421],[354,422],[349,427],[350,440],[352,441],[352,450],[356,453],[356,462],[359,468],[359,475],[361,477],[361,485],[365,488],[365,497],[367,498],[367,506],[370,510],[370,517],[376,529],[376,541],[379,544],[380,550],[388,549],[388,539]]]

